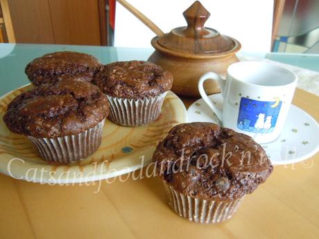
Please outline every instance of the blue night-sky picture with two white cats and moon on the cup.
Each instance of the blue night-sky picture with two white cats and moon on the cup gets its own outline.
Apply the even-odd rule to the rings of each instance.
[[[273,132],[282,100],[274,97],[275,101],[260,101],[241,98],[237,127],[240,130],[266,134]]]

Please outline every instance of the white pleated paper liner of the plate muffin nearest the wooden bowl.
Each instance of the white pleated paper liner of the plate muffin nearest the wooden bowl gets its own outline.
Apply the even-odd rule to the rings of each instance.
[[[110,103],[109,119],[123,126],[140,126],[153,122],[160,116],[167,91],[159,96],[133,100],[107,96]]]

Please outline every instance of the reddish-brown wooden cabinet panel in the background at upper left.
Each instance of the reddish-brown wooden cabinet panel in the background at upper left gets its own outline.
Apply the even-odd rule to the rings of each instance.
[[[17,43],[106,45],[106,0],[10,0]]]

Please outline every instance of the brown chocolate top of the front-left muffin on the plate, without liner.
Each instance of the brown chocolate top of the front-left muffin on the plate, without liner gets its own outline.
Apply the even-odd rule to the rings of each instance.
[[[3,119],[17,134],[56,138],[94,127],[107,114],[107,98],[98,87],[65,79],[20,94],[8,105]]]

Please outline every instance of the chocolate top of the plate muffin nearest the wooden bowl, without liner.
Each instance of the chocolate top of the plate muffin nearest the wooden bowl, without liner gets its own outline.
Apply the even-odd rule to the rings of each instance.
[[[93,81],[112,97],[143,99],[158,96],[171,89],[173,76],[151,62],[114,62],[101,68]]]

